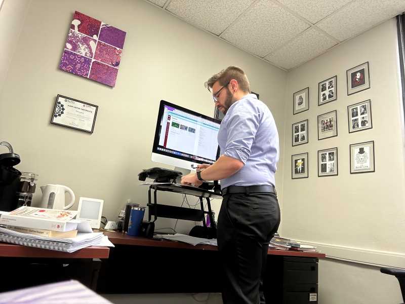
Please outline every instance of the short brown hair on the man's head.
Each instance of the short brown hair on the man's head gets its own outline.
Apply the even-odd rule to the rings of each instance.
[[[204,83],[204,86],[211,92],[210,89],[218,81],[221,86],[226,85],[232,79],[236,80],[240,90],[250,93],[250,84],[245,72],[237,66],[228,66],[226,69],[213,75],[208,81]]]

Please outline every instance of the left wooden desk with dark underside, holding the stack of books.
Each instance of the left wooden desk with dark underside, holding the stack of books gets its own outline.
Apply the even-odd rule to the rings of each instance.
[[[0,292],[75,279],[96,290],[101,260],[108,247],[91,246],[72,253],[0,243],[0,269],[7,280]]]

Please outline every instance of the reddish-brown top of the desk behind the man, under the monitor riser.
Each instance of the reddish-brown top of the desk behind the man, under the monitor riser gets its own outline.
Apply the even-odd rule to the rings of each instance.
[[[152,240],[143,237],[129,236],[121,232],[104,231],[104,235],[108,236],[111,243],[116,245],[133,245],[133,246],[150,246],[150,247],[167,247],[167,248],[184,248],[196,250],[218,250],[217,246],[212,245],[190,245],[187,243],[166,241],[166,240]],[[299,252],[292,250],[268,250],[270,255],[284,255],[284,256],[303,256],[303,257],[325,257],[325,253],[320,252]]]

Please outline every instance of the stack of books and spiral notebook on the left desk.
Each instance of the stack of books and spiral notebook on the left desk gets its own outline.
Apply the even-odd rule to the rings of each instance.
[[[76,214],[77,211],[27,206],[3,213],[0,242],[65,252],[92,245],[112,245],[103,233],[93,233],[88,222],[73,219]]]

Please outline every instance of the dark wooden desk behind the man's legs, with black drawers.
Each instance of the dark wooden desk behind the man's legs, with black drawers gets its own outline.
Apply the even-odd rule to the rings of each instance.
[[[181,242],[152,240],[117,232],[104,232],[115,245],[103,262],[99,293],[198,293],[221,292],[218,249],[211,245],[189,245]],[[305,281],[311,273],[311,286],[317,292],[317,258],[319,252],[268,250],[265,294],[272,303],[282,303],[288,292],[290,278]],[[286,268],[292,265],[292,268]],[[288,274],[287,274],[288,273]],[[131,279],[124,280],[129,277]],[[107,278],[117,278],[107,280]],[[294,280],[294,279],[293,279]],[[106,283],[108,282],[108,284]],[[306,292],[301,292],[307,297]],[[311,302],[312,303],[312,302]],[[313,302],[317,303],[317,302]]]

